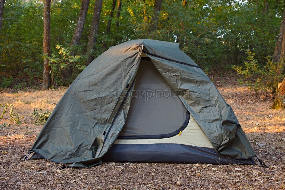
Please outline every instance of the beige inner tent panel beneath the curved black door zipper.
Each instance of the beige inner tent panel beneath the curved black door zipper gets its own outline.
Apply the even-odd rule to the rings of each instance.
[[[192,115],[190,116],[187,127],[180,135],[175,135],[163,139],[117,139],[114,144],[156,144],[156,143],[175,143],[192,145],[196,147],[213,148],[213,145],[200,129]]]

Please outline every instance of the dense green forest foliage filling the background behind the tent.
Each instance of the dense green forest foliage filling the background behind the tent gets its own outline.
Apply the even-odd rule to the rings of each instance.
[[[234,0],[164,0],[158,15],[157,29],[150,31],[154,0],[122,1],[120,17],[114,14],[111,30],[106,34],[112,0],[103,1],[94,57],[110,46],[133,39],[156,39],[177,42],[207,73],[229,70],[230,65],[243,65],[247,49],[255,53],[258,65],[272,55],[280,28],[284,1]],[[61,85],[63,68],[72,65],[72,81],[84,69],[83,60],[95,1],[90,1],[80,44],[69,47],[80,12],[80,0],[51,1],[51,52],[53,86]],[[117,9],[117,7],[116,7]],[[115,9],[115,13],[116,10]],[[39,0],[6,0],[0,35],[0,87],[12,84],[10,76],[24,75],[30,81],[42,76],[43,70],[43,3]],[[119,21],[119,27],[116,26]],[[61,44],[58,48],[57,44]],[[102,45],[106,48],[103,49]],[[67,48],[68,47],[68,48]],[[58,49],[57,49],[58,48]],[[63,49],[61,49],[63,48]],[[62,55],[56,52],[62,51]],[[76,52],[75,54],[71,52]],[[69,56],[80,56],[68,60]],[[53,60],[52,60],[53,59]],[[38,78],[38,77],[37,77]],[[22,81],[21,81],[22,82]],[[28,81],[27,85],[29,85]]]

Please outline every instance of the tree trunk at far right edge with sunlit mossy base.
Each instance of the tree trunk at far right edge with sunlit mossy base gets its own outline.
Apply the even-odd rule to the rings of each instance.
[[[283,61],[284,62],[284,57],[285,57],[285,52],[284,52],[284,41],[285,41],[285,31],[284,31],[284,13],[281,21],[281,26],[276,42],[276,46],[274,49],[274,54],[273,54],[273,59],[272,62],[279,62]],[[279,109],[280,107],[284,107],[284,80],[283,79],[282,83],[278,84],[278,87],[276,88],[276,95],[275,99],[273,102],[272,109]]]

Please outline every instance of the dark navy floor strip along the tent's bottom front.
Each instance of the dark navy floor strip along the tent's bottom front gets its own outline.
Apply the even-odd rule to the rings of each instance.
[[[152,163],[207,163],[252,165],[250,159],[230,159],[218,155],[213,148],[174,143],[114,144],[102,161]]]

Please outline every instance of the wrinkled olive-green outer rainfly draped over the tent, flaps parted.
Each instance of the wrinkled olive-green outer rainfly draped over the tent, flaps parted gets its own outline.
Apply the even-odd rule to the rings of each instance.
[[[70,85],[29,152],[70,167],[100,164],[125,123],[131,98],[122,92],[133,88],[142,51],[197,66],[176,43],[133,40],[110,48]],[[200,68],[146,55],[174,90],[185,93],[182,103],[217,153],[255,156],[233,110]],[[122,94],[110,97],[110,91]]]

